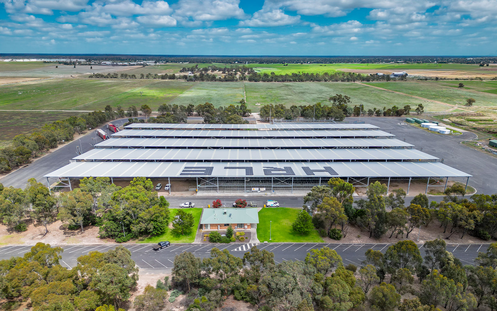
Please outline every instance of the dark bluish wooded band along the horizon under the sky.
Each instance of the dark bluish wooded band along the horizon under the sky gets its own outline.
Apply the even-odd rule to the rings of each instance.
[[[496,63],[497,57],[482,56],[246,56],[246,55],[126,55],[126,54],[1,54],[1,58],[84,58],[91,61],[136,62],[140,60],[172,63],[300,64],[300,63]]]

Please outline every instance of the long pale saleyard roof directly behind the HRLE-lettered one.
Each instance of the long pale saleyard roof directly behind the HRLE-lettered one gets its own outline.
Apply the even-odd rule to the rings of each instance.
[[[161,162],[301,162],[301,161],[434,161],[416,149],[128,149],[96,148],[77,161]]]

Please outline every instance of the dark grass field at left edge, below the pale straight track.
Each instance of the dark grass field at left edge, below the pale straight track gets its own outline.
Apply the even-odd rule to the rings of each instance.
[[[15,135],[31,134],[45,123],[79,115],[80,112],[58,111],[0,111],[0,148],[8,145]]]

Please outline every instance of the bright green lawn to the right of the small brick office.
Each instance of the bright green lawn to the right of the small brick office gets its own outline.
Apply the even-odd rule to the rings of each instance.
[[[292,223],[297,218],[300,208],[266,207],[259,211],[257,239],[261,242],[323,242],[318,231],[313,229],[308,235],[292,230]],[[269,240],[269,221],[271,222],[271,240]]]

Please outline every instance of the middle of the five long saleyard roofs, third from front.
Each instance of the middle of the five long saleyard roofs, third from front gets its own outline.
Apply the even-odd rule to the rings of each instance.
[[[96,148],[403,148],[413,145],[394,138],[296,138],[296,139],[216,139],[216,138],[110,138]]]

